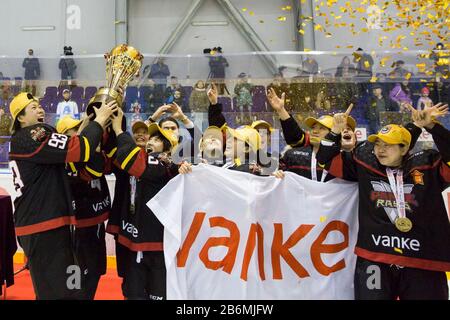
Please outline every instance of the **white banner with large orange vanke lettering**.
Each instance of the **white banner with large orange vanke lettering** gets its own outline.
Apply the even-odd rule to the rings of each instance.
[[[147,205],[165,227],[168,299],[353,299],[358,189],[209,165]]]

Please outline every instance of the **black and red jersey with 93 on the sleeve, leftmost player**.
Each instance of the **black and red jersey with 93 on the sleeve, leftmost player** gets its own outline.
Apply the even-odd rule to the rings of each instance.
[[[70,138],[39,123],[12,136],[9,160],[18,193],[14,201],[18,236],[75,224],[65,164],[87,162],[102,132],[93,121],[79,136]]]

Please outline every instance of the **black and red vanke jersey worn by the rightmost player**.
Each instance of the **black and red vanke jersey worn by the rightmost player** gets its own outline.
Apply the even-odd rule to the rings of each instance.
[[[403,170],[408,232],[395,225],[398,216],[386,167],[371,142],[340,152],[340,137],[329,134],[317,159],[326,168],[359,185],[359,232],[355,253],[367,260],[400,266],[450,271],[450,221],[442,191],[450,185],[450,132],[436,124],[429,130],[440,152],[424,150],[405,158]],[[330,160],[331,159],[331,160]]]

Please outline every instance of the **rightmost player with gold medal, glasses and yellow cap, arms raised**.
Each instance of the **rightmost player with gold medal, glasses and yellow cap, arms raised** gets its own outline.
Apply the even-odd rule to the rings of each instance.
[[[439,104],[413,112],[439,152],[409,155],[411,133],[395,124],[340,152],[342,118],[320,146],[319,163],[359,185],[356,299],[448,299],[450,223],[441,192],[450,184],[450,132],[432,120],[446,112]]]

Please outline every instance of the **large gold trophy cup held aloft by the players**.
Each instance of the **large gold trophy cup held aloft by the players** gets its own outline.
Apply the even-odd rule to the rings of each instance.
[[[94,107],[99,108],[102,103],[116,100],[122,106],[123,93],[128,83],[139,74],[143,55],[135,48],[126,44],[119,45],[105,54],[106,59],[106,87],[100,88],[89,101],[86,114],[94,113]]]

